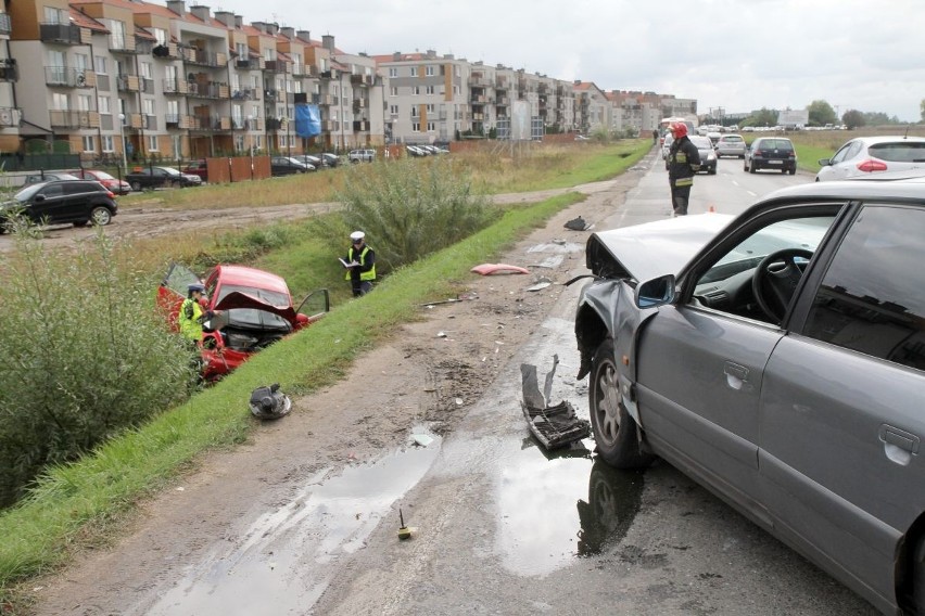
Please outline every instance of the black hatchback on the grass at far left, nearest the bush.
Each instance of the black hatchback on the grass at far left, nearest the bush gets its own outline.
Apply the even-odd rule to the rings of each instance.
[[[75,227],[109,224],[118,211],[115,195],[93,180],[51,180],[28,184],[0,204],[0,233],[14,214],[22,214],[37,223]]]

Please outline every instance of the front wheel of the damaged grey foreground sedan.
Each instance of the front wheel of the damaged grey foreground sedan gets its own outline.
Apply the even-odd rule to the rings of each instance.
[[[613,339],[606,338],[594,354],[588,388],[591,427],[597,454],[617,469],[642,469],[654,457],[639,447],[636,422],[620,400]]]

